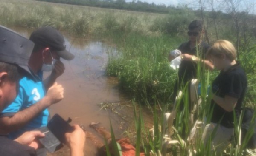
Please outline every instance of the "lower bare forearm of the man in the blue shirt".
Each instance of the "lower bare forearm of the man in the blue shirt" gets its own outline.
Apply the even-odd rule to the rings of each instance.
[[[22,111],[18,111],[14,116],[5,116],[0,118],[0,133],[10,133],[19,128],[22,128],[28,122],[35,118],[39,113],[49,107],[49,99],[45,96],[39,102],[26,108]]]

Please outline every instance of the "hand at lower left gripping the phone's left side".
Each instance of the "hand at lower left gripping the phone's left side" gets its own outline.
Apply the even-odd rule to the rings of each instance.
[[[36,139],[43,138],[43,137],[44,137],[44,133],[41,133],[40,131],[28,131],[23,133],[14,141],[19,142],[22,145],[28,145],[30,147],[38,149],[39,145]]]

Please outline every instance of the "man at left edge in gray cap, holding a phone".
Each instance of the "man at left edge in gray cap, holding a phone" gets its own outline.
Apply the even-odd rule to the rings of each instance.
[[[34,44],[31,41],[0,26],[0,111],[3,111],[15,99],[19,89],[18,82],[23,75],[30,74],[26,71],[26,67],[33,47]],[[78,125],[74,125],[73,132],[65,134],[71,156],[83,155],[84,136],[84,132]],[[38,137],[44,137],[44,134],[40,131],[30,131],[23,133],[14,141],[0,136],[0,155],[36,156],[35,149],[38,144],[35,139]]]

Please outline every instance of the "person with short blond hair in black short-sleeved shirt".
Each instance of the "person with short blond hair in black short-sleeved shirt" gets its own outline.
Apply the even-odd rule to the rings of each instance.
[[[212,115],[209,113],[207,116],[211,123],[204,129],[203,141],[205,144],[209,143],[211,136],[212,148],[221,152],[233,136],[234,113],[239,117],[247,89],[247,77],[236,62],[236,49],[229,41],[218,40],[207,55],[220,73],[212,82]]]

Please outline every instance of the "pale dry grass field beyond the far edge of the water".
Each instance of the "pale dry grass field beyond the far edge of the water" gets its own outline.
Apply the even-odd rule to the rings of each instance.
[[[32,0],[0,0],[0,3],[1,25],[27,28],[54,26],[81,36],[103,35],[116,31],[157,34],[149,30],[151,23],[166,16]]]

